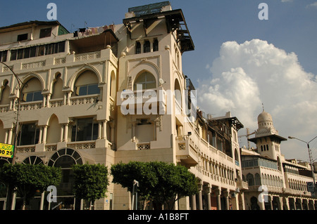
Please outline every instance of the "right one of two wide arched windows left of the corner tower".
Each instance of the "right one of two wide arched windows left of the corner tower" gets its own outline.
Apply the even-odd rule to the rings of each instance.
[[[92,71],[85,71],[75,81],[75,95],[99,94],[97,75]]]

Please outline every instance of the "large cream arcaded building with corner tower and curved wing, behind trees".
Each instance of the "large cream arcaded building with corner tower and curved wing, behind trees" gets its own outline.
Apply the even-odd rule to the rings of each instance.
[[[197,110],[182,72],[182,54],[192,50],[182,10],[168,1],[129,8],[122,24],[75,33],[57,21],[1,27],[0,143],[16,143],[17,163],[63,171],[57,202],[38,192],[29,209],[87,209],[73,195],[70,167],[130,161],[182,164],[197,176],[199,194],[175,209],[245,209],[243,125],[230,112]],[[132,209],[131,197],[111,183],[94,209]],[[1,191],[0,209],[20,204],[19,195],[7,203]]]

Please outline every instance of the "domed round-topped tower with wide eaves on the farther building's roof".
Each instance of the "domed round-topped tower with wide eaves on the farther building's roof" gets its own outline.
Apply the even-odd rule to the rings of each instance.
[[[282,140],[287,139],[278,135],[278,131],[273,126],[271,114],[264,111],[263,108],[263,112],[258,116],[258,129],[255,131],[254,138],[249,138],[249,141],[256,143],[262,157],[278,160]]]

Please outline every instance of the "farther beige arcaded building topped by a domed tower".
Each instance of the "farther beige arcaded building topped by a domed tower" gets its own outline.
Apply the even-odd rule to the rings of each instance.
[[[271,114],[263,110],[258,125],[254,138],[249,138],[256,149],[244,147],[241,153],[242,175],[249,185],[246,209],[315,210],[317,199],[307,187],[313,183],[310,164],[281,154],[280,143],[287,139],[278,135]]]

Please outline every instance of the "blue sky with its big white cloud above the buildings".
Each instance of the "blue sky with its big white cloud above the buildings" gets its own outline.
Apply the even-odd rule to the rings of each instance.
[[[87,27],[122,23],[128,8],[159,1],[5,1],[0,6],[0,27],[47,20],[46,6],[50,2],[57,5],[57,20],[73,32],[84,27],[85,22]],[[268,20],[258,18],[262,2],[268,4]],[[311,98],[317,93],[317,0],[170,0],[170,3],[173,9],[182,9],[194,41],[195,51],[183,55],[183,72],[199,89],[199,102],[206,114],[217,117],[231,111],[244,126],[255,130],[263,103],[281,136],[293,135],[306,141],[317,136],[317,97]],[[256,56],[246,54],[253,51]],[[252,65],[259,59],[256,57],[271,66]],[[276,74],[270,70],[275,65],[280,65],[275,68]],[[268,81],[273,79],[272,73],[278,77],[280,88]],[[292,86],[296,81],[297,86]],[[237,89],[237,85],[241,88]],[[215,97],[228,104],[222,105]],[[294,103],[290,98],[294,98]],[[240,99],[246,103],[237,103]],[[246,114],[249,119],[244,118]],[[242,144],[247,143],[242,140]],[[285,157],[308,159],[306,145],[295,140],[282,144]],[[317,140],[311,143],[314,158],[317,158],[316,145]]]

